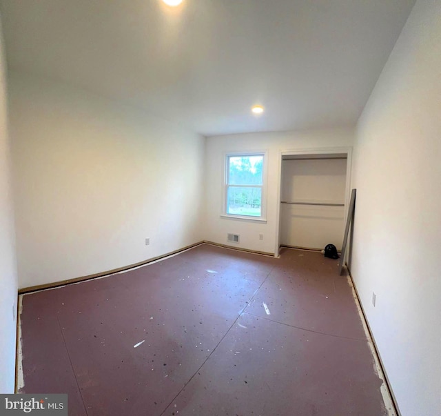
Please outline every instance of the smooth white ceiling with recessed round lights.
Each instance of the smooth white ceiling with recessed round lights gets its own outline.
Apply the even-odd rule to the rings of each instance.
[[[415,0],[0,3],[10,70],[207,136],[355,124]]]

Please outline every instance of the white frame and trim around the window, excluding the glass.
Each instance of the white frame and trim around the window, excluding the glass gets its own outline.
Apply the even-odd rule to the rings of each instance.
[[[260,217],[254,215],[235,215],[227,213],[227,192],[228,192],[228,168],[229,157],[247,157],[247,156],[263,156],[262,167],[262,199],[260,206]],[[268,164],[268,152],[267,150],[252,151],[252,152],[227,152],[224,157],[224,175],[223,175],[223,208],[220,217],[229,219],[238,219],[240,221],[251,222],[267,222],[267,164]],[[249,185],[256,187],[256,185]],[[246,187],[246,186],[245,186]]]

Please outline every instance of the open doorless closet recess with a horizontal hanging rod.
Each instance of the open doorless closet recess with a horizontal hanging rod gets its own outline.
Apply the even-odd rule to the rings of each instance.
[[[280,155],[280,246],[342,248],[349,195],[351,152],[282,152]]]

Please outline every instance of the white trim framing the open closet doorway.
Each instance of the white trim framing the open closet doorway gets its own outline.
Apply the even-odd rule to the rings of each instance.
[[[296,155],[336,155],[343,153],[347,155],[346,162],[346,190],[345,190],[345,221],[346,224],[347,211],[349,209],[349,198],[351,197],[351,166],[352,166],[352,146],[338,148],[310,148],[310,149],[291,149],[279,150],[278,155],[278,171],[277,171],[277,198],[276,198],[276,247],[274,248],[274,257],[278,257],[280,247],[280,195],[282,187],[282,159],[284,156]],[[320,158],[318,158],[320,159]]]

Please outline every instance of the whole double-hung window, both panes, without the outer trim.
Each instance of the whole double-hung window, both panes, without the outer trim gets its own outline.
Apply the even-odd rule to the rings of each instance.
[[[225,214],[263,217],[264,154],[227,155]]]

